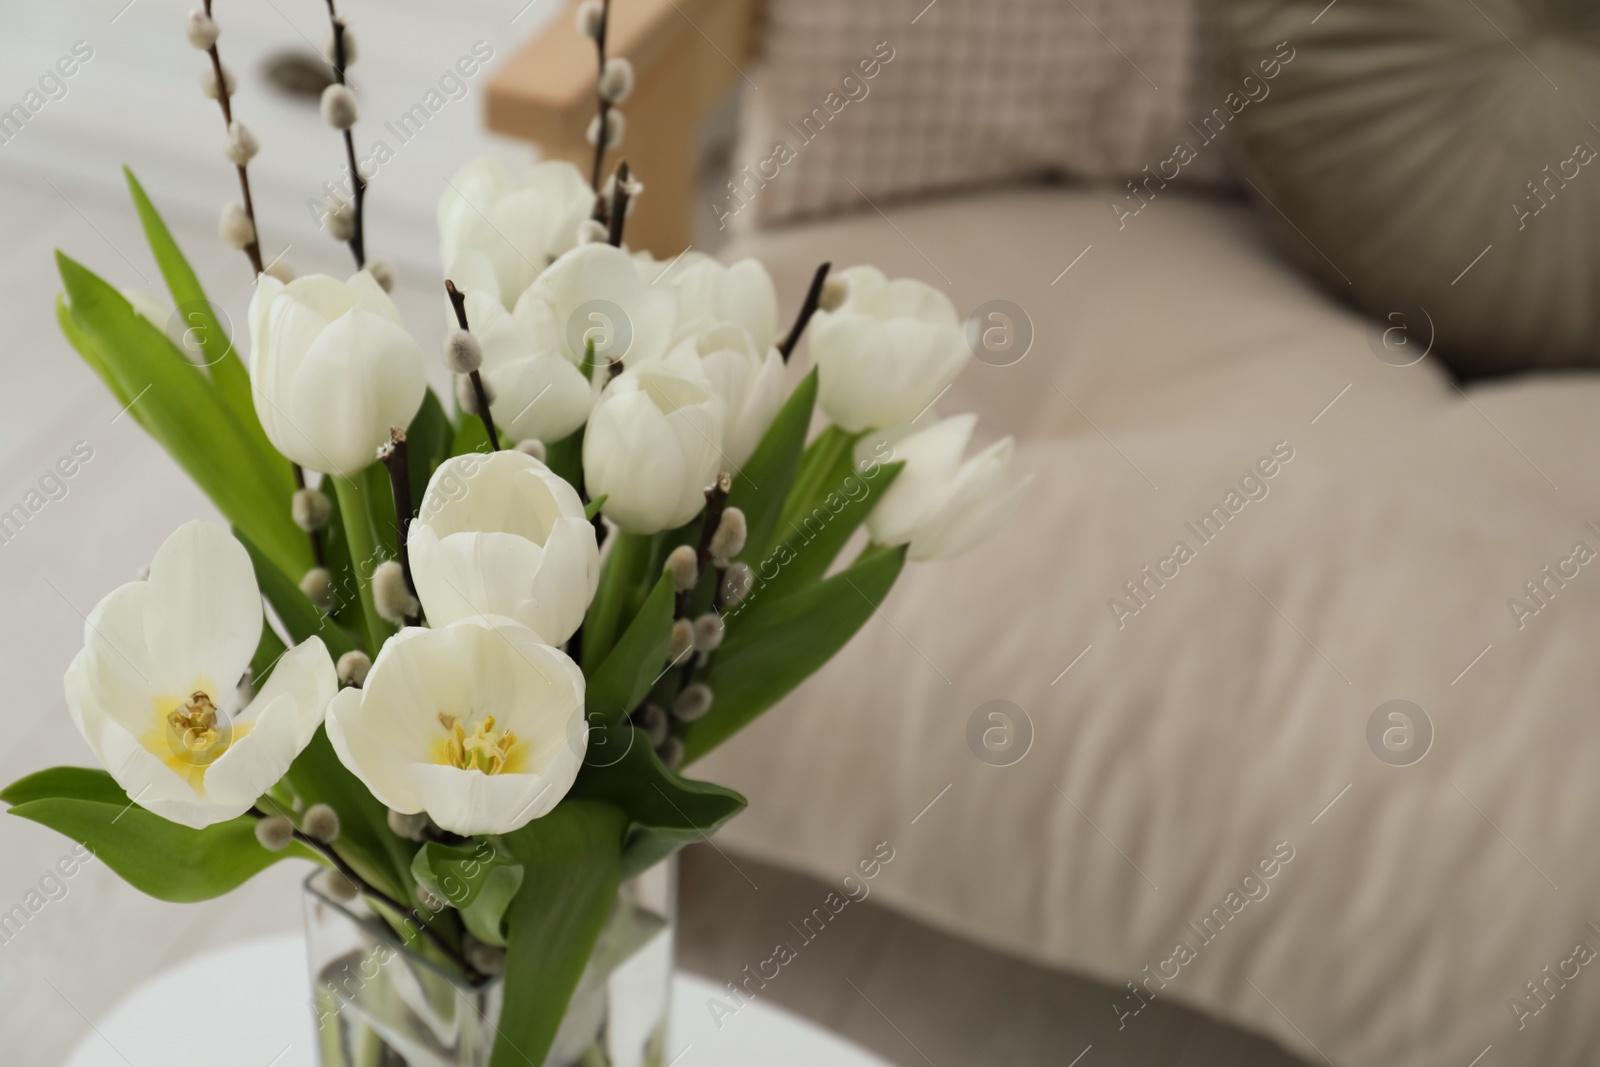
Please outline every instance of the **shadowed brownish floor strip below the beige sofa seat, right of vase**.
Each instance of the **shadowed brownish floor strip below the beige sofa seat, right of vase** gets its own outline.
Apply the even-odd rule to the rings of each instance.
[[[1304,1067],[1272,1041],[1173,1003],[1155,1001],[1118,1030],[1122,990],[950,937],[870,896],[806,942],[790,923],[830,888],[710,845],[686,849],[680,966],[744,982],[746,966],[755,971],[787,942],[795,958],[765,987],[752,982],[757,997],[901,1067]]]

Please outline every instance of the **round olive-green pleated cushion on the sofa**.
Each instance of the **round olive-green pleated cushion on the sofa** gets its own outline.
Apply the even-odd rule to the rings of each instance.
[[[1378,318],[1426,309],[1464,374],[1600,363],[1600,8],[1222,0],[1245,173],[1280,245]]]

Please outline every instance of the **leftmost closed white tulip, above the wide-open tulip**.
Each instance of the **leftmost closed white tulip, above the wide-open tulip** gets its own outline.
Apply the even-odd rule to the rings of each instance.
[[[365,270],[339,282],[256,280],[250,381],[261,429],[302,467],[350,477],[392,427],[411,424],[427,382],[422,349]]]

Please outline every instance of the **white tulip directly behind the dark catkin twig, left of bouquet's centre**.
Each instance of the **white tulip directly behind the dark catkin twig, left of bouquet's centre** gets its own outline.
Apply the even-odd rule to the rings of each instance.
[[[568,355],[550,306],[525,293],[507,312],[490,290],[467,288],[466,296],[499,432],[514,442],[558,442],[578,430],[589,419],[594,390]]]

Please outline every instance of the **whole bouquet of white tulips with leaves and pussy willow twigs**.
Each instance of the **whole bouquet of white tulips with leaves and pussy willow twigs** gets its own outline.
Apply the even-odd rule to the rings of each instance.
[[[349,29],[330,0],[322,110],[355,195],[325,222],[358,269],[294,278],[262,254],[210,6],[189,38],[243,194],[221,237],[256,275],[248,365],[131,173],[176,310],[59,254],[58,317],[230,528],[178,526],[88,616],[66,702],[104,769],[0,798],[166,901],[325,864],[418,952],[502,971],[491,1062],[538,1064],[618,885],[744,806],[682,768],[826,664],[907,558],[1000,525],[1010,442],[963,458],[971,418],[931,414],[970,355],[938,290],[824,264],[782,333],[762,264],[626,248],[642,187],[600,174],[632,72],[598,3],[594,174],[477,162],[440,202],[446,413],[366,259]]]

